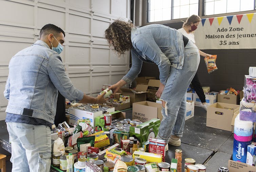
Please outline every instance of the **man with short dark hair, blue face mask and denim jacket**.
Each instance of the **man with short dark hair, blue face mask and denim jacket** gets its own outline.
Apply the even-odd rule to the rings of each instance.
[[[12,143],[12,171],[50,171],[51,126],[58,91],[79,103],[103,103],[103,95],[87,96],[71,83],[62,64],[65,32],[47,24],[40,40],[12,57],[4,96],[6,124]]]

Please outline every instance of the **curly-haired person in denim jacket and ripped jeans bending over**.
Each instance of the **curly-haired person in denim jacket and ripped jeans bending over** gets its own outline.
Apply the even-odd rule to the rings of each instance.
[[[156,95],[162,101],[163,119],[157,138],[180,146],[185,122],[186,90],[199,65],[196,45],[176,29],[159,24],[135,28],[132,23],[121,20],[114,21],[105,31],[105,36],[119,55],[127,50],[131,50],[132,55],[130,71],[109,87],[114,93],[138,76],[142,62],[158,65],[161,83]]]

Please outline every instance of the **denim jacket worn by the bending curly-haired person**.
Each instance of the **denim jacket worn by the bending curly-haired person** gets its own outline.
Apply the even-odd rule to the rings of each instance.
[[[170,67],[182,69],[184,43],[181,32],[160,24],[151,24],[131,30],[132,67],[122,78],[131,83],[140,73],[142,61],[158,65],[160,81],[165,85]]]

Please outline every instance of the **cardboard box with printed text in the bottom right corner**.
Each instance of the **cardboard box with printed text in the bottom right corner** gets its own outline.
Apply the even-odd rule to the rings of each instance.
[[[250,166],[248,164],[245,163],[241,163],[238,161],[233,161],[233,160],[228,160],[228,167],[229,172],[247,172],[247,171],[256,171],[256,167],[255,166]]]

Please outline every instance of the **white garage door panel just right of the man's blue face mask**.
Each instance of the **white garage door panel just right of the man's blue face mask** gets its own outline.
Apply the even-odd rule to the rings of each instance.
[[[69,56],[67,62],[89,63],[90,48],[69,46]]]

